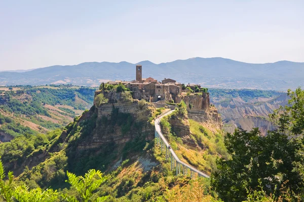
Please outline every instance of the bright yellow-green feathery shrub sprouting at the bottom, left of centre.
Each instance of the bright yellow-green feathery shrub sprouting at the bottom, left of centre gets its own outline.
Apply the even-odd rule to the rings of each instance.
[[[89,170],[85,177],[76,176],[72,173],[66,172],[68,177],[68,182],[72,188],[76,189],[80,195],[81,201],[87,202],[91,201],[93,198],[93,192],[105,182],[106,178],[102,176],[100,171],[95,171],[94,169]],[[107,196],[102,196],[96,198],[94,201],[105,201]],[[73,196],[67,196],[67,201],[77,201]]]

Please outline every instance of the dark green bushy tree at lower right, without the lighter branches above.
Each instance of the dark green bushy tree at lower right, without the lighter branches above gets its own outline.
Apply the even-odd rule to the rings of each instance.
[[[212,176],[212,185],[223,200],[245,200],[247,190],[256,190],[259,180],[263,190],[276,196],[286,190],[297,193],[303,186],[299,174],[292,172],[299,145],[284,133],[271,131],[263,137],[257,128],[236,129],[234,134],[227,133],[225,146],[232,159],[219,160]]]

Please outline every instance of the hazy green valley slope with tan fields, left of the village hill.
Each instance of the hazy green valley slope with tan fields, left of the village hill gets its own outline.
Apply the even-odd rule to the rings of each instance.
[[[94,89],[79,87],[27,86],[3,92],[0,95],[0,119],[10,121],[0,121],[0,131],[11,137],[46,133],[71,122],[75,115],[92,105],[93,97]]]

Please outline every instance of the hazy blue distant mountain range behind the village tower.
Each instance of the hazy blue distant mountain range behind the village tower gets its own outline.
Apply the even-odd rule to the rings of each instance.
[[[278,61],[252,64],[231,59],[189,58],[155,64],[141,61],[143,77],[172,78],[182,83],[200,83],[209,88],[254,88],[287,90],[304,86],[304,62]],[[106,80],[135,79],[130,62],[84,62],[55,65],[27,72],[0,72],[0,85],[42,85],[71,83],[96,86]]]

